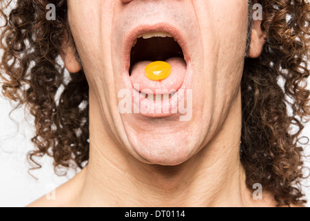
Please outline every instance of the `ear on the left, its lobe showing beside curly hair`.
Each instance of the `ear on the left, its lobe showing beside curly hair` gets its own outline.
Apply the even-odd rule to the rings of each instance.
[[[82,69],[79,61],[76,61],[76,48],[73,44],[72,37],[70,37],[68,41],[63,42],[60,54],[65,63],[65,68],[67,68],[70,73],[78,73]]]

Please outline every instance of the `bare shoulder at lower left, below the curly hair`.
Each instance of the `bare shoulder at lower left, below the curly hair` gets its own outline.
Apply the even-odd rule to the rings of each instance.
[[[43,195],[39,200],[29,204],[27,207],[68,207],[74,206],[76,198],[79,197],[81,191],[81,178],[84,171],[81,171],[72,180],[59,186],[54,191]]]

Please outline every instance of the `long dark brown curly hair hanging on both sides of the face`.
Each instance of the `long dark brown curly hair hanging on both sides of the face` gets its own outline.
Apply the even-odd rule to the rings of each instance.
[[[36,157],[49,155],[56,172],[83,168],[89,157],[88,84],[83,70],[66,78],[59,64],[61,45],[71,36],[67,2],[18,0],[6,13],[11,1],[0,9],[0,77],[3,95],[34,116],[36,150],[28,154],[30,162],[40,168]],[[307,0],[255,2],[263,6],[266,43],[260,57],[245,59],[240,160],[249,189],[262,184],[278,206],[304,204],[300,140],[310,115],[310,6]],[[56,6],[55,21],[45,19],[48,3]]]

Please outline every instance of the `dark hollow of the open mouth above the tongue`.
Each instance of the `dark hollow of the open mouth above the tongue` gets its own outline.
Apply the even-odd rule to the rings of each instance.
[[[166,61],[171,57],[182,57],[183,50],[173,37],[140,37],[130,54],[130,75],[132,67],[139,61]]]

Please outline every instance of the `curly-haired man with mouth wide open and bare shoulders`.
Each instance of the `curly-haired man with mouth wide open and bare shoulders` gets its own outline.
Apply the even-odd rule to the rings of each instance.
[[[23,0],[6,19],[3,93],[35,117],[30,160],[84,168],[30,206],[304,202],[306,1]],[[158,60],[171,75],[147,78]]]

